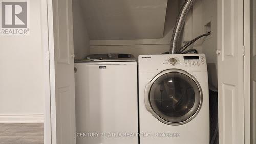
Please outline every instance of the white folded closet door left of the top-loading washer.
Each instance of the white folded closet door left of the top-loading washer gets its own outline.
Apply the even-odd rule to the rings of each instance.
[[[52,143],[76,143],[72,0],[49,0]]]

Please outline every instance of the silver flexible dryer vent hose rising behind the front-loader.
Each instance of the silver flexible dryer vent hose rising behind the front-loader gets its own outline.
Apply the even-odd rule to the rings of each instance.
[[[187,13],[189,12],[190,8],[193,6],[195,1],[196,0],[185,0],[183,6],[181,8],[178,19],[176,21],[176,25],[174,27],[172,40],[170,41],[169,54],[175,54],[175,51],[177,49],[177,46],[178,46],[178,43],[180,40],[181,30],[184,26],[185,19],[187,17]]]

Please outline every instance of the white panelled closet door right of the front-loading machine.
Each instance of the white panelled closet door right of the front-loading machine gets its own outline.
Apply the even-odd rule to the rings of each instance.
[[[220,144],[244,143],[243,1],[218,0]]]

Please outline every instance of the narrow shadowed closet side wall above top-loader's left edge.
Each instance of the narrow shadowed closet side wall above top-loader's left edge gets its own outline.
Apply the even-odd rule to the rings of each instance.
[[[75,59],[82,59],[90,54],[90,42],[80,0],[73,0],[73,31]]]

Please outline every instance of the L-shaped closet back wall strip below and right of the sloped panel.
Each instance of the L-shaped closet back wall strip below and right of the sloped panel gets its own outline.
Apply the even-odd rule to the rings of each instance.
[[[164,37],[160,39],[138,40],[91,40],[91,54],[98,53],[131,53],[138,57],[142,54],[160,54],[169,51],[170,38],[172,37],[178,15],[178,1],[168,1],[165,20]]]

